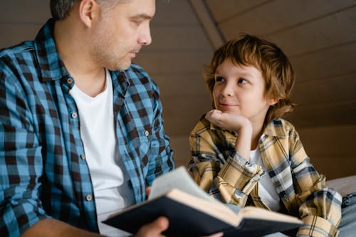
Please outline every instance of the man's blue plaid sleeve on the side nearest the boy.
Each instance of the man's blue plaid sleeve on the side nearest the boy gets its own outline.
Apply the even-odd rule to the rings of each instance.
[[[149,155],[149,172],[147,173],[147,185],[151,186],[153,180],[159,175],[165,174],[175,168],[173,151],[169,146],[169,137],[164,132],[162,118],[162,102],[159,99],[159,88],[153,85],[153,122],[152,143]]]

